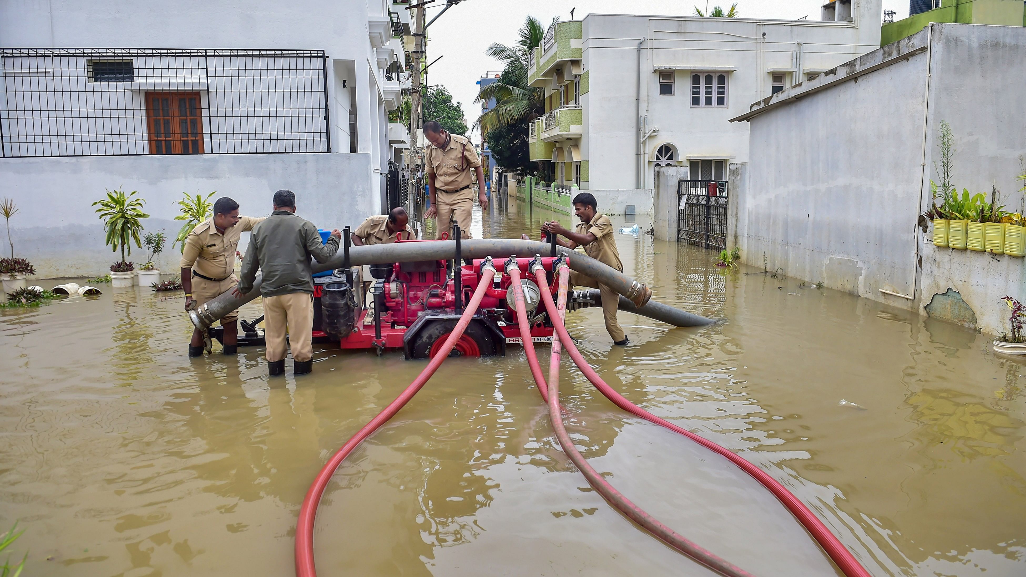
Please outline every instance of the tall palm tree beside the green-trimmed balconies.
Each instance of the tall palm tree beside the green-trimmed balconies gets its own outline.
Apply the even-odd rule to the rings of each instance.
[[[552,18],[555,26],[559,17]],[[482,114],[476,124],[481,133],[494,128],[529,122],[545,113],[545,90],[527,83],[527,69],[531,51],[542,45],[546,29],[535,16],[527,16],[518,31],[519,38],[513,46],[498,42],[485,50],[489,56],[505,63],[498,82],[481,86],[475,103],[496,100],[496,106]]]

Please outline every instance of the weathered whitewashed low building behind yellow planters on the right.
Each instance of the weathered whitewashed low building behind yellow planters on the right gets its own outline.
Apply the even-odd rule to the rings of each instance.
[[[990,334],[1026,298],[1022,258],[935,246],[919,215],[952,181],[1024,211],[1026,28],[932,24],[752,105],[751,158],[731,168],[727,244],[742,261]],[[986,87],[981,91],[980,87]]]

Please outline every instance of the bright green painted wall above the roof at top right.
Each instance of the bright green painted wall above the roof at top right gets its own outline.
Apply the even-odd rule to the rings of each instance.
[[[948,6],[884,24],[880,28],[880,46],[907,38],[930,23],[1026,26],[1026,10],[1020,0],[954,0]]]

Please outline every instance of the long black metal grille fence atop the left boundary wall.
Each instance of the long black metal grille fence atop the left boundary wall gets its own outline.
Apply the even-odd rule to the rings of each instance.
[[[5,157],[330,152],[323,50],[0,49]]]

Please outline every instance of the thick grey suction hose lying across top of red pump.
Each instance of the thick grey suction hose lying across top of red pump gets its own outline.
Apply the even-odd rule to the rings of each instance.
[[[552,248],[547,242],[523,240],[519,238],[474,238],[461,242],[462,257],[465,259],[495,259],[506,257],[534,257],[548,254]],[[652,291],[644,284],[614,270],[587,255],[558,247],[561,254],[568,255],[570,269],[594,278],[609,286],[617,293],[627,297],[635,306],[643,306],[649,302]],[[349,249],[351,266],[370,264],[403,263],[416,261],[449,260],[456,256],[456,241],[433,240],[431,242],[390,242],[372,246],[353,246]],[[315,263],[313,272],[321,272],[342,268],[345,256],[337,254],[328,262]],[[235,298],[229,291],[220,297],[203,303],[189,313],[193,324],[203,330],[229,312],[260,296],[261,275],[256,275],[253,287],[242,298]],[[710,321],[711,322],[711,321]]]

